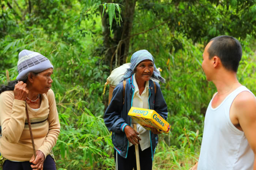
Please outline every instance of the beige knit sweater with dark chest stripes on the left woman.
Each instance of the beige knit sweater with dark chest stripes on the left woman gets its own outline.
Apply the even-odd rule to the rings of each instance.
[[[56,145],[60,123],[54,92],[50,89],[41,97],[39,111],[33,111],[29,105],[27,107],[35,150],[42,151],[46,157]],[[29,161],[33,156],[33,147],[26,116],[26,104],[25,101],[14,99],[13,91],[5,91],[0,95],[0,120],[1,155],[9,160]]]

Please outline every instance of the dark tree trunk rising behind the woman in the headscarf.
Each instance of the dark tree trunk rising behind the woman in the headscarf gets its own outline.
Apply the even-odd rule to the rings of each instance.
[[[134,17],[134,10],[137,0],[119,0],[116,3],[122,4],[121,16],[123,22],[121,22],[121,27],[116,26],[113,20],[113,34],[114,37],[110,36],[110,26],[109,26],[109,15],[104,13],[102,17],[102,33],[103,33],[103,45],[104,45],[104,56],[105,64],[110,66],[110,71],[120,65],[126,63],[126,58],[129,52],[130,44],[130,32],[132,30],[132,22]],[[109,0],[108,2],[112,2]],[[103,8],[101,8],[102,13]],[[116,16],[118,17],[118,12],[116,10]]]

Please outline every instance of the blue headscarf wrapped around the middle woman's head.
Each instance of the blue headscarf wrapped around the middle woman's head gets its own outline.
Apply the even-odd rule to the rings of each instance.
[[[134,69],[143,60],[151,60],[154,63],[154,72],[152,74],[152,78],[159,80],[162,83],[165,83],[165,79],[161,77],[160,71],[158,71],[156,68],[154,57],[147,50],[139,50],[132,54],[130,68],[128,68],[125,72],[123,80],[130,78],[132,74],[135,73]]]

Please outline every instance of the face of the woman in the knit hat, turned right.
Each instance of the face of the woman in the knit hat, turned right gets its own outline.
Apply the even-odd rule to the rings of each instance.
[[[53,69],[48,68],[40,73],[38,73],[32,82],[32,86],[34,91],[37,91],[40,94],[48,92],[48,90],[52,87],[52,78]]]

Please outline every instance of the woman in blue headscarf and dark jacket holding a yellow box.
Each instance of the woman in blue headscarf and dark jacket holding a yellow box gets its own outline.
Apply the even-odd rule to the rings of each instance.
[[[137,169],[134,147],[136,143],[139,144],[141,169],[152,169],[159,132],[154,128],[151,131],[145,130],[140,124],[137,124],[137,131],[133,130],[132,124],[136,122],[128,116],[133,106],[154,109],[165,120],[167,119],[167,104],[160,85],[157,82],[153,83],[151,78],[165,83],[165,79],[155,66],[152,54],[147,50],[135,52],[131,57],[130,68],[123,77],[123,80],[126,80],[125,89],[123,82],[116,86],[104,114],[104,122],[112,131],[116,170]]]

